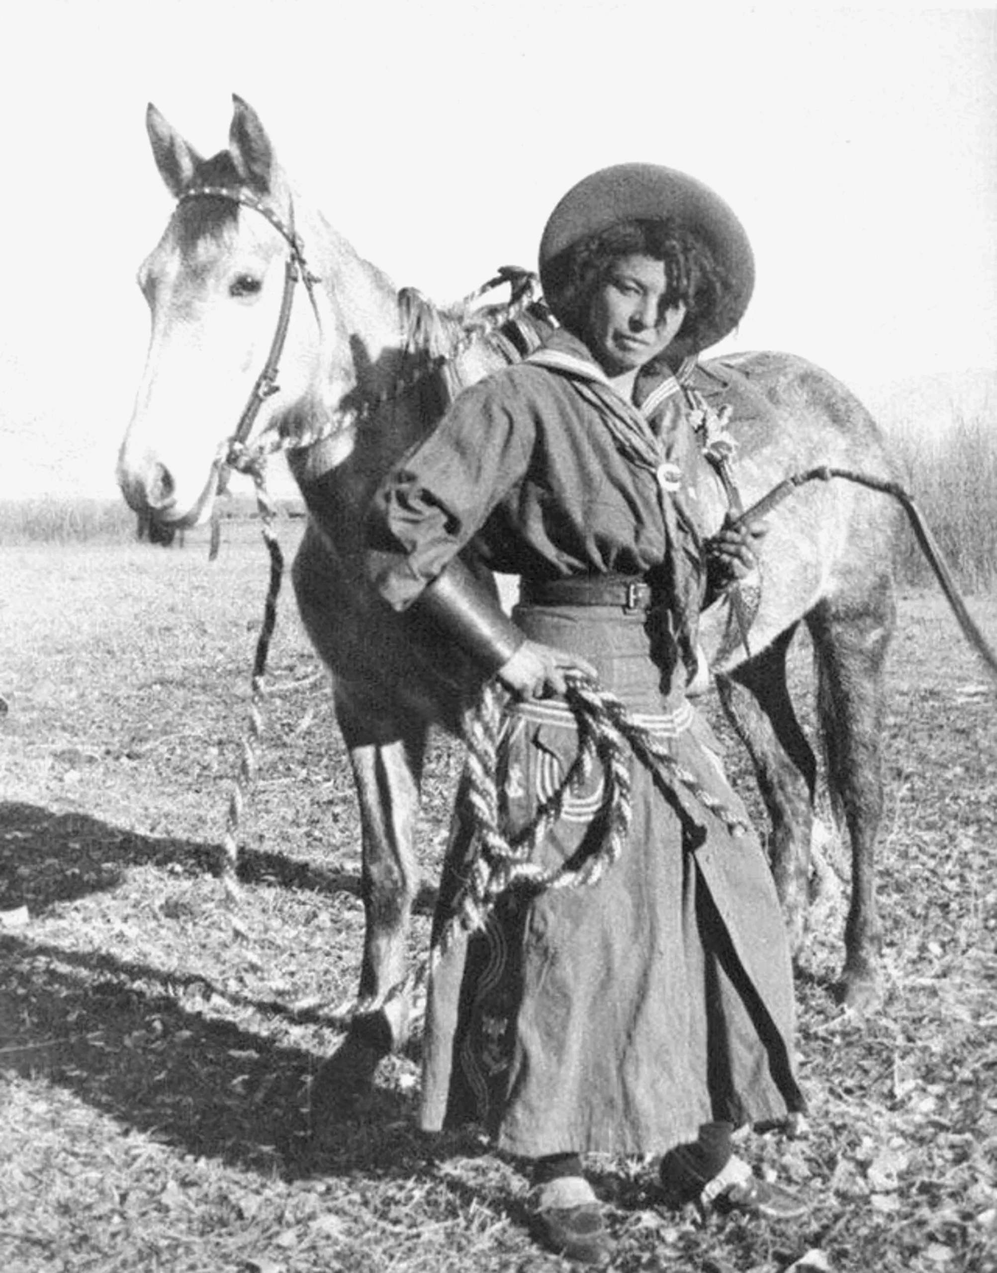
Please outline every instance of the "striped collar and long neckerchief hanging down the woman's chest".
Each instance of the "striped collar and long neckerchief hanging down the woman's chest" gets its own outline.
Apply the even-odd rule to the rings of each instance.
[[[695,359],[686,359],[677,374],[667,367],[656,367],[652,374],[642,373],[635,386],[638,402],[623,397],[592,359],[588,348],[563,328],[555,331],[526,362],[568,377],[610,430],[620,453],[635,467],[653,474],[672,582],[668,608],[682,662],[690,676],[694,675],[703,575],[702,542],[695,522],[684,505],[682,471],[675,462],[670,443],[677,416],[685,410],[682,383],[691,376]],[[684,538],[686,544],[691,538],[691,552],[682,551]]]

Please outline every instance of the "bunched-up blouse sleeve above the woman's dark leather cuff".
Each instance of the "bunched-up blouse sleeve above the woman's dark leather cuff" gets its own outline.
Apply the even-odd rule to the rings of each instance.
[[[368,514],[367,573],[405,610],[477,533],[522,479],[532,414],[503,373],[465,390],[439,425],[396,465]]]

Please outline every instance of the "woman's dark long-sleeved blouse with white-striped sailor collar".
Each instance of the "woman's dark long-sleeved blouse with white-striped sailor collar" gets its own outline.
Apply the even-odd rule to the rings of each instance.
[[[371,574],[383,597],[404,610],[471,545],[494,570],[536,580],[667,566],[674,608],[689,612],[702,570],[679,490],[682,388],[644,370],[635,397],[565,331],[465,390],[376,496]]]

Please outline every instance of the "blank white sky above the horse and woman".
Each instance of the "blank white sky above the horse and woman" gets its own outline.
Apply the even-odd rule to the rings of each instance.
[[[803,354],[859,393],[997,368],[997,10],[676,8],[6,6],[0,432],[113,490],[148,337],[135,270],[171,211],[145,106],[208,155],[233,92],[329,220],[437,300],[534,266],[568,186],[639,159],[745,223],[758,284],[728,346]]]

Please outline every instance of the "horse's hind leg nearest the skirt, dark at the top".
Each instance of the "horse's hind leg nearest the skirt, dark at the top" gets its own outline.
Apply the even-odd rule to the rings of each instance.
[[[786,684],[786,653],[795,631],[796,625],[732,672],[718,676],[717,690],[751,757],[772,821],[769,862],[789,947],[797,955],[806,932],[817,765]]]

